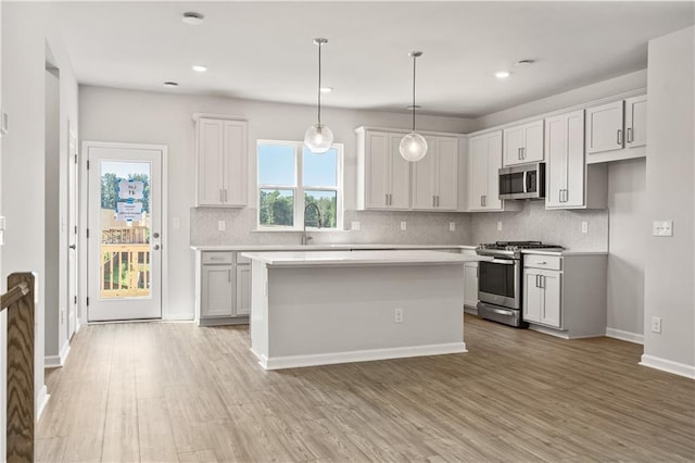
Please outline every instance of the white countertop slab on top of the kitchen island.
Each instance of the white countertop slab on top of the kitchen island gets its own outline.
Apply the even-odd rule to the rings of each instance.
[[[470,261],[492,258],[464,255],[428,250],[384,251],[294,251],[294,252],[242,252],[244,258],[273,266],[348,266],[348,265],[460,265]]]

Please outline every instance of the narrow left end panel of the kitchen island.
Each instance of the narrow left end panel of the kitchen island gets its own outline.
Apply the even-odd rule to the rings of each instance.
[[[268,270],[260,261],[251,262],[251,351],[266,366],[268,359]]]

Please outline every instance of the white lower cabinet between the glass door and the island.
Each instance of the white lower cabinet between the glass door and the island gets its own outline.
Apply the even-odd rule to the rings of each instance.
[[[199,325],[248,323],[251,265],[233,251],[199,253],[195,322]]]

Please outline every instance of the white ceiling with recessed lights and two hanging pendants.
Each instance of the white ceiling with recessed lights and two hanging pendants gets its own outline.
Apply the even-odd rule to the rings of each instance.
[[[694,22],[692,1],[60,2],[77,79],[98,86],[479,116],[642,70],[647,41]],[[187,11],[205,15],[199,26]],[[513,67],[519,60],[528,67]],[[192,64],[204,64],[200,74]],[[497,80],[493,73],[514,74]],[[176,89],[165,80],[179,83]]]

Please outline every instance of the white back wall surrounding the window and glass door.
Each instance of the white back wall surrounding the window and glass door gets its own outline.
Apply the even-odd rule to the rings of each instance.
[[[218,113],[238,115],[249,120],[249,178],[256,178],[255,142],[257,139],[301,140],[306,128],[316,117],[315,107],[293,105],[237,100],[214,97],[192,97],[173,92],[142,92],[100,87],[80,86],[80,138],[83,140],[161,143],[168,146],[168,300],[163,308],[163,316],[186,318],[193,315],[193,254],[190,250],[190,228],[205,228],[202,222],[216,224],[218,217],[228,221],[229,233],[222,236],[222,243],[276,242],[292,239],[299,243],[299,235],[261,234],[252,232],[255,217],[257,191],[255,182],[249,185],[250,208],[243,210],[191,209],[194,203],[193,163],[193,113]],[[361,125],[408,128],[408,113],[383,113],[326,108],[321,120],[331,127],[336,142],[344,143],[345,209],[355,208],[356,154],[354,129]],[[418,116],[418,127],[422,130],[466,133],[472,122],[454,117]],[[406,213],[408,214],[408,213]],[[412,213],[416,224],[444,222],[442,216]],[[459,233],[465,233],[466,218],[463,214],[450,214],[463,222]],[[365,221],[374,220],[382,227],[384,221],[400,220],[399,214],[383,215],[365,213]],[[180,220],[180,227],[173,224]],[[191,223],[194,221],[194,223]],[[346,217],[346,222],[350,218]],[[241,225],[240,225],[241,224]],[[418,227],[416,227],[413,232]],[[441,227],[443,228],[443,226]],[[448,233],[448,232],[447,232]],[[342,233],[343,235],[346,233]],[[393,235],[393,232],[389,233]],[[285,234],[287,235],[287,234]],[[264,238],[265,236],[265,238]],[[427,236],[426,233],[417,236]],[[445,235],[446,237],[451,235]],[[387,238],[389,235],[387,235]],[[463,235],[455,235],[451,243],[460,243]]]

